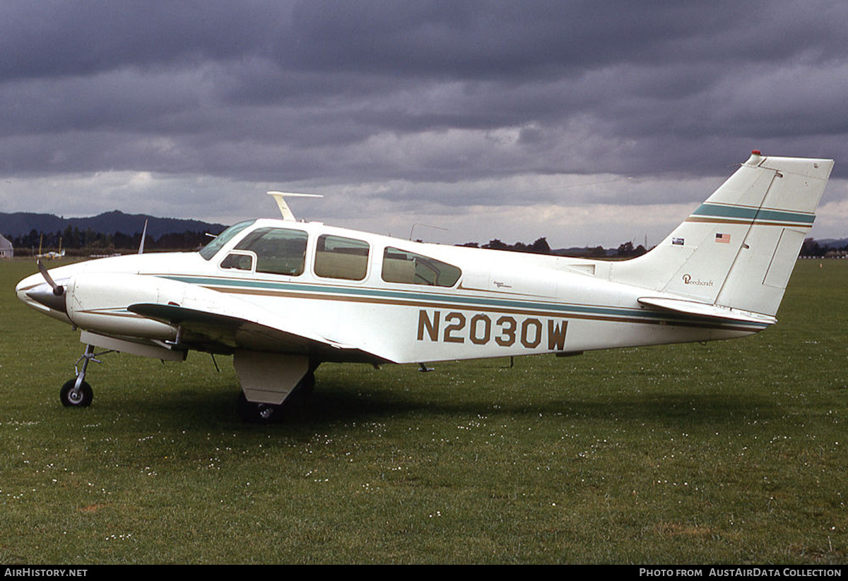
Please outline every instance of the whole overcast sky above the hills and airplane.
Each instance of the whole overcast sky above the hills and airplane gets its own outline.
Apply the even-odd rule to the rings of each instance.
[[[742,163],[834,158],[848,2],[0,3],[0,212],[656,244]],[[416,225],[417,224],[417,225]],[[413,230],[414,229],[414,230]]]

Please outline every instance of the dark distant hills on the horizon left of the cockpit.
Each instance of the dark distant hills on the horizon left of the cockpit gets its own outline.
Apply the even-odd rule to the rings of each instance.
[[[120,232],[126,235],[141,234],[144,221],[148,220],[148,235],[158,238],[165,234],[181,232],[209,232],[219,234],[226,226],[210,224],[200,220],[176,218],[157,218],[145,214],[127,214],[114,210],[91,218],[59,218],[46,213],[2,213],[0,212],[0,233],[6,236],[27,235],[32,230],[36,232],[60,232],[70,226],[79,230],[93,230],[114,234]]]

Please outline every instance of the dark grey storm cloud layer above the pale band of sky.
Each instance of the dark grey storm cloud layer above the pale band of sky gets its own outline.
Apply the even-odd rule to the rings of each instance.
[[[0,169],[456,182],[848,158],[846,21],[841,2],[6,2]]]

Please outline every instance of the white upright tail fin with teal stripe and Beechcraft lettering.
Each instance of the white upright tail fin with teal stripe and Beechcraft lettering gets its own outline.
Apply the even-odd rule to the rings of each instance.
[[[659,246],[614,263],[611,279],[774,316],[833,166],[752,152]]]

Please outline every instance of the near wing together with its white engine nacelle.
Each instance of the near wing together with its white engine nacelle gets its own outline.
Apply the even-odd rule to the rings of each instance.
[[[116,339],[234,353],[278,352],[338,362],[391,362],[363,345],[322,336],[303,313],[276,313],[201,285],[142,274],[80,273],[64,280],[64,314]],[[173,330],[177,329],[176,340]]]

